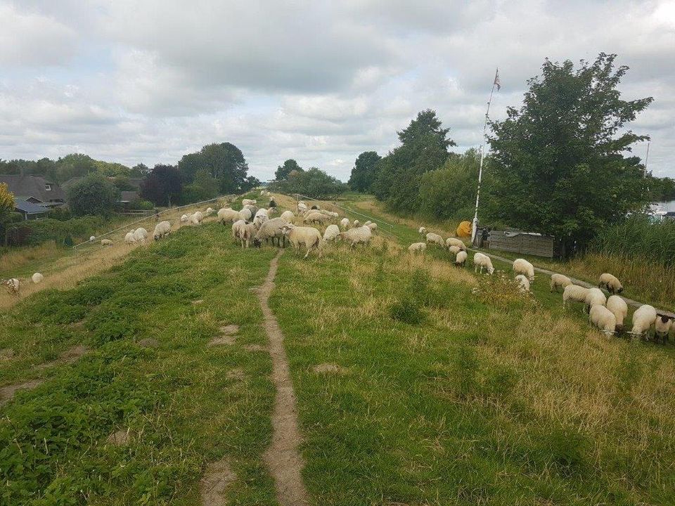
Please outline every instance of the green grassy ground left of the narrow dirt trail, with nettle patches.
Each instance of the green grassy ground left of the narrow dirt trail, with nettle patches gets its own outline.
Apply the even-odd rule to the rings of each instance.
[[[46,290],[2,314],[0,348],[16,356],[0,362],[0,384],[46,381],[0,408],[0,504],[195,504],[206,462],[224,455],[238,504],[276,504],[260,459],[271,363],[243,348],[266,342],[249,289],[272,255],[240,254],[217,223],[183,228],[74,290]],[[241,326],[237,343],[207,347],[227,323]],[[136,344],[146,337],[158,348]],[[34,367],[73,344],[93,351]],[[140,434],[134,443],[105,443],[123,427]]]

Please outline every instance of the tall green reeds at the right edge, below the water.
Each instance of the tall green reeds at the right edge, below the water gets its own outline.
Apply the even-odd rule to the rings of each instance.
[[[600,231],[590,249],[601,254],[675,266],[675,221],[653,223],[643,214],[630,216]]]

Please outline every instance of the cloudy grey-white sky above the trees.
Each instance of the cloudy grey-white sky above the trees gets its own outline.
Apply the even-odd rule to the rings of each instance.
[[[238,145],[347,180],[433,108],[458,150],[518,105],[544,58],[617,53],[649,169],[675,176],[675,1],[0,0],[0,158],[133,165]],[[646,145],[635,152],[645,154]]]

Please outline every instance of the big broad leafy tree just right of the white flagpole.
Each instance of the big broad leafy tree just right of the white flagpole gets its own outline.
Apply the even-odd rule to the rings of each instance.
[[[647,136],[626,129],[652,98],[622,100],[628,67],[600,53],[592,63],[546,60],[520,109],[491,122],[494,164],[487,203],[494,219],[584,245],[648,200],[644,167],[625,157]]]

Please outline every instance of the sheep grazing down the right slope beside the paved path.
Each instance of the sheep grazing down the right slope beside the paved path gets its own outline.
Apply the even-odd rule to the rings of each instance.
[[[455,255],[455,265],[464,266],[468,254],[464,243],[456,238],[443,238],[436,233],[427,233],[426,228],[420,227],[418,232],[423,235],[426,242],[415,242],[408,247],[411,253],[423,253],[427,245],[439,245],[447,248],[451,254]],[[483,269],[488,274],[494,273],[494,267],[490,257],[486,254],[477,252],[473,256],[474,271],[480,273]],[[534,266],[525,259],[515,259],[513,261],[513,273],[515,281],[522,292],[529,292],[529,284],[534,280]],[[589,314],[589,320],[606,335],[615,335],[624,332],[624,320],[628,315],[628,304],[618,294],[624,290],[622,283],[616,276],[610,273],[603,273],[598,280],[598,287],[586,288],[580,285],[574,285],[572,280],[562,274],[551,275],[551,292],[563,290],[563,306],[567,307],[571,302],[580,302],[584,304],[584,311]],[[607,290],[610,296],[607,297],[602,289]],[[649,340],[650,330],[653,329],[654,339],[658,342],[665,342],[668,338],[671,327],[675,328],[673,319],[667,315],[658,314],[654,306],[643,304],[635,313],[633,313],[633,326],[628,332],[634,337],[643,337]]]

